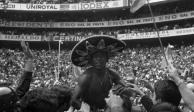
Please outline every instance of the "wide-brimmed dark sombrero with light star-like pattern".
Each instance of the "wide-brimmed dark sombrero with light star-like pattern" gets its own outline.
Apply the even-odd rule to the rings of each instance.
[[[80,67],[89,66],[91,56],[99,51],[106,52],[108,57],[120,53],[126,44],[125,42],[107,35],[94,35],[77,43],[71,52],[71,61]]]

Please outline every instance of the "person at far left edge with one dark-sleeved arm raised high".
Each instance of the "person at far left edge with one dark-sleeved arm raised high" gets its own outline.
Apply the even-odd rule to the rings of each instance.
[[[10,87],[0,88],[0,111],[2,112],[14,112],[14,110],[16,110],[16,102],[25,95],[30,87],[33,70],[33,54],[29,49],[29,46],[24,42],[21,42],[21,46],[26,56],[24,74],[22,75],[16,90],[13,90]]]

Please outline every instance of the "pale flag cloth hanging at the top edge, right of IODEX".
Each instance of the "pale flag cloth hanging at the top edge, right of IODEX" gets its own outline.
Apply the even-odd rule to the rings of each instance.
[[[146,4],[147,0],[130,0],[130,12],[135,13],[138,9],[140,9],[144,4]]]

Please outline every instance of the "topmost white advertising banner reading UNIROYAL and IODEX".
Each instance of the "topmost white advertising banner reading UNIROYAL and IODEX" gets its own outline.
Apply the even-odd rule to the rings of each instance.
[[[72,4],[19,4],[0,2],[0,9],[3,10],[23,10],[23,11],[75,11],[124,7],[126,0],[102,1],[89,3],[72,3]]]

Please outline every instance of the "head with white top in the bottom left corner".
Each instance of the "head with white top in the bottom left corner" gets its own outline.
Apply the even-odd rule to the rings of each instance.
[[[13,112],[16,106],[17,96],[8,87],[0,87],[0,112]]]

